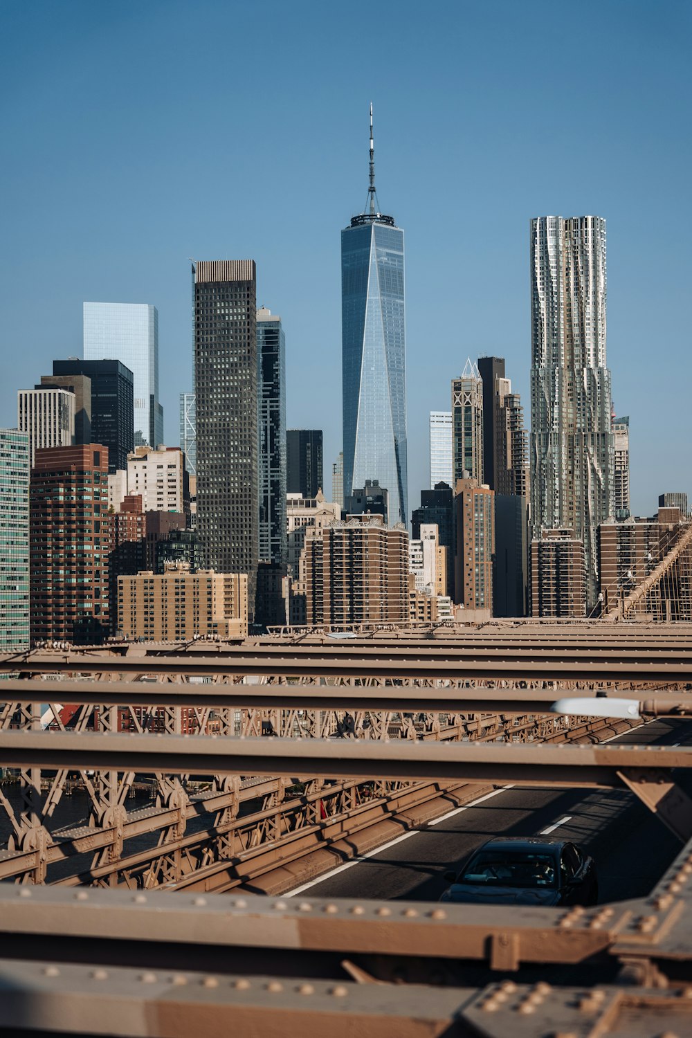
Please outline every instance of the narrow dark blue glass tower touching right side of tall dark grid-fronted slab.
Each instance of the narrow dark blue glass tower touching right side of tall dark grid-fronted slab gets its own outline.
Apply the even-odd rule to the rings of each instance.
[[[257,310],[259,558],[279,566],[282,574],[286,566],[285,356],[281,318],[260,306]],[[319,436],[322,475],[322,433]]]

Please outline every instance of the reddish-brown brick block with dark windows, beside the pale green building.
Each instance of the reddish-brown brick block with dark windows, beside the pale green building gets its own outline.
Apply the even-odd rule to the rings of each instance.
[[[29,495],[31,640],[103,641],[110,633],[108,448],[36,450]]]

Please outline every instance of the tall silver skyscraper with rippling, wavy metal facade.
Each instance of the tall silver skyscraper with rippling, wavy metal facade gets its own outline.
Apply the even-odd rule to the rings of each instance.
[[[599,588],[597,531],[614,511],[606,367],[606,221],[531,221],[531,532],[583,541],[586,602]]]

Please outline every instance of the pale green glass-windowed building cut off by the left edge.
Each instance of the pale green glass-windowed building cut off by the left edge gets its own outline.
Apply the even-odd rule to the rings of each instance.
[[[0,429],[0,650],[29,643],[29,434]]]

